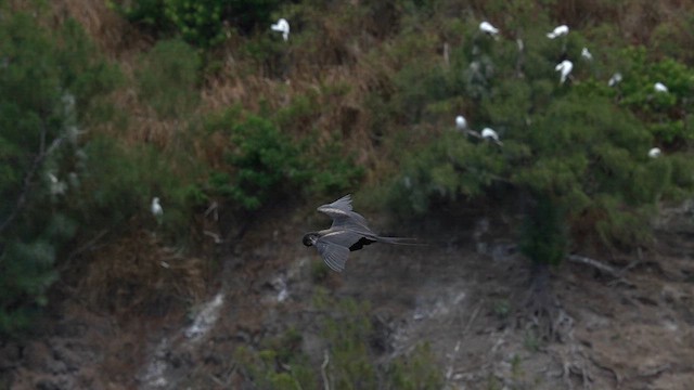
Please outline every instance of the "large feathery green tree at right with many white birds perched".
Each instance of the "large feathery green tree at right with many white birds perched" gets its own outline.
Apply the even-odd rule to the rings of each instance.
[[[537,17],[524,23],[529,14]],[[412,126],[437,130],[401,158],[391,191],[399,211],[425,213],[433,202],[479,198],[503,183],[513,188],[507,199],[529,194],[520,206],[524,252],[556,263],[570,238],[601,245],[647,239],[658,203],[692,194],[694,177],[686,172],[694,171],[687,154],[694,128],[685,118],[694,113],[686,98],[694,70],[671,58],[653,61],[642,49],[589,62],[580,56],[589,44],[580,31],[550,40],[548,20],[541,9],[525,10],[499,40],[467,21],[450,66],[404,64],[395,80],[411,80],[398,93],[412,98],[385,104]],[[561,83],[554,67],[564,58],[574,72]],[[617,70],[625,81],[611,88],[607,78]],[[426,87],[435,79],[436,88]],[[672,89],[657,93],[656,81]],[[416,116],[412,104],[420,107]],[[461,113],[470,130],[491,127],[503,144],[457,130],[453,118]],[[664,150],[660,158],[647,156],[655,146]]]

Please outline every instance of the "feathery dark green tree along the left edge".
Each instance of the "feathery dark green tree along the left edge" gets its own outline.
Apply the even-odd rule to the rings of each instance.
[[[30,322],[75,235],[66,197],[82,173],[80,123],[116,77],[73,22],[0,11],[0,333]]]

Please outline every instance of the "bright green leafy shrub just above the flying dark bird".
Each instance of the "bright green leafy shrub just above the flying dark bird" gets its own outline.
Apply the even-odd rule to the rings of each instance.
[[[222,132],[224,171],[210,172],[207,191],[231,198],[241,209],[255,211],[271,200],[343,191],[362,174],[340,143],[317,145],[311,135],[295,139],[272,120],[230,109],[207,119],[208,133]]]

